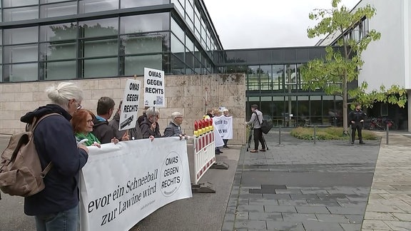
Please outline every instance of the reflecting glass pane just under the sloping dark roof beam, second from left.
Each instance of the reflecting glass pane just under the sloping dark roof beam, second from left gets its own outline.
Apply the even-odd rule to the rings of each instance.
[[[60,41],[76,37],[77,26],[73,23],[40,26],[40,41]]]

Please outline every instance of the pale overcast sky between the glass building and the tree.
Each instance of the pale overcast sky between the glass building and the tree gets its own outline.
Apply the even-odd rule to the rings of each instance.
[[[348,9],[360,0],[342,0]],[[313,9],[331,9],[332,0],[204,0],[224,49],[313,46],[308,19]]]

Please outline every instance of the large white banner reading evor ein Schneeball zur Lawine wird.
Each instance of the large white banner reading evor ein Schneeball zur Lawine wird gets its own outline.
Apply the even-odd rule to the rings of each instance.
[[[192,197],[186,140],[130,140],[88,147],[81,170],[81,231],[130,230],[175,200]]]

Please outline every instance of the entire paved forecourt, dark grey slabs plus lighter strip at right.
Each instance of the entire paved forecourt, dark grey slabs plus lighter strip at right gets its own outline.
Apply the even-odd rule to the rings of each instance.
[[[266,152],[241,150],[222,230],[411,230],[409,139],[314,143],[272,130]]]

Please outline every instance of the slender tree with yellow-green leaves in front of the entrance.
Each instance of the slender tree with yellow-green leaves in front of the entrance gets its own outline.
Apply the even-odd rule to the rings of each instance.
[[[360,28],[362,21],[375,16],[375,8],[367,6],[350,11],[345,6],[338,6],[341,0],[332,0],[333,9],[314,9],[310,14],[311,20],[320,22],[313,28],[308,28],[308,37],[339,36],[336,46],[327,46],[323,59],[309,61],[302,67],[303,89],[317,91],[323,89],[328,95],[342,96],[342,120],[344,133],[347,134],[347,106],[348,98],[361,103],[365,107],[372,107],[375,102],[397,104],[404,108],[407,101],[406,90],[400,86],[391,86],[386,89],[381,86],[379,90],[366,93],[367,83],[363,82],[355,88],[347,88],[347,83],[356,81],[364,61],[361,59],[371,41],[380,39],[381,34],[375,29],[363,30],[358,36],[352,36]]]

